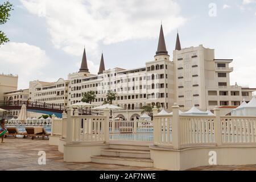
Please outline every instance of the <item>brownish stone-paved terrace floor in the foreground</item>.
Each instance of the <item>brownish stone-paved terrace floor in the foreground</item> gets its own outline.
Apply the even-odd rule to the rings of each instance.
[[[38,164],[38,152],[46,152],[46,165]],[[96,163],[64,163],[63,154],[56,146],[49,146],[48,140],[42,139],[23,139],[23,138],[6,138],[5,143],[0,143],[0,170],[14,171],[139,171],[139,170],[158,170],[155,168],[118,166],[113,164],[96,164]],[[189,169],[193,171],[214,170],[214,171],[256,171],[256,165],[247,166],[208,166]]]

